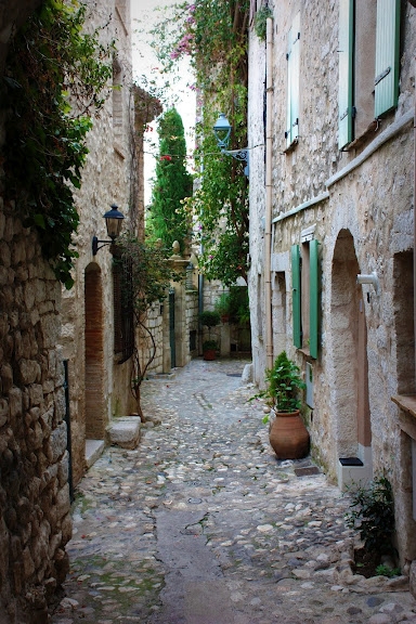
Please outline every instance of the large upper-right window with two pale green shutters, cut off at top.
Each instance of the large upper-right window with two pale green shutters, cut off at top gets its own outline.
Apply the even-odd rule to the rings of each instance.
[[[338,147],[375,136],[398,105],[400,0],[338,0]]]

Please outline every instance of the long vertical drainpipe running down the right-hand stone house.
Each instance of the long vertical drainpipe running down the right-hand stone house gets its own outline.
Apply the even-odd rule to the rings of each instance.
[[[265,223],[264,223],[264,307],[265,366],[273,366],[272,332],[272,104],[273,104],[273,20],[266,21],[265,46]]]

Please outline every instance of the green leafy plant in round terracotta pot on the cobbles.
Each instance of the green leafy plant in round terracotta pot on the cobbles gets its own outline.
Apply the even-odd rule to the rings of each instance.
[[[269,440],[277,459],[300,459],[309,453],[310,437],[300,417],[300,392],[306,384],[300,368],[282,351],[265,372],[265,389],[256,394],[271,408]],[[274,416],[274,418],[270,418]]]

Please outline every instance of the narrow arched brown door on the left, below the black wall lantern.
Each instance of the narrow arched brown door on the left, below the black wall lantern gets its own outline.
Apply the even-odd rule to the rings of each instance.
[[[86,438],[104,440],[104,338],[101,269],[92,262],[86,269]]]

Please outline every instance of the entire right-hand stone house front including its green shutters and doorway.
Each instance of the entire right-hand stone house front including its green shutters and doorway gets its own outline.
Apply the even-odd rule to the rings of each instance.
[[[313,457],[341,487],[388,476],[408,569],[416,10],[270,3],[264,41],[252,27],[260,6],[249,47],[255,378],[282,350],[295,359]]]

